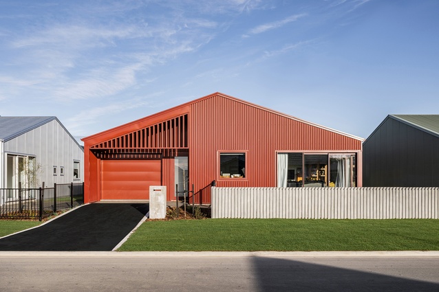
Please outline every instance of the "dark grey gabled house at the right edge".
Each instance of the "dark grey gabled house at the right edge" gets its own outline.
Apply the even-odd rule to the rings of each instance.
[[[439,115],[388,115],[363,143],[363,186],[439,186]]]

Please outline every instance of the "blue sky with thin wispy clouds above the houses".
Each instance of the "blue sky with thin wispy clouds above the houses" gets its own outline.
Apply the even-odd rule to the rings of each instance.
[[[438,114],[439,1],[0,0],[0,115],[76,138],[220,91],[367,138]]]

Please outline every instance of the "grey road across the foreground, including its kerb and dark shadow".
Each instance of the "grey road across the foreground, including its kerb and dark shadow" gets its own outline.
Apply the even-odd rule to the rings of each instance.
[[[0,252],[1,291],[439,291],[439,252]]]

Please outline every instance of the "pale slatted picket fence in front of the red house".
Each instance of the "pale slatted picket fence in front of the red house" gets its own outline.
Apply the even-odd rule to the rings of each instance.
[[[212,218],[439,218],[439,188],[212,188]]]

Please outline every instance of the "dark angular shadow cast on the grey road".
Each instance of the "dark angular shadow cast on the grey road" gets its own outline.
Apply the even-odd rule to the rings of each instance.
[[[258,257],[252,264],[258,291],[439,291],[431,282],[296,260]]]

